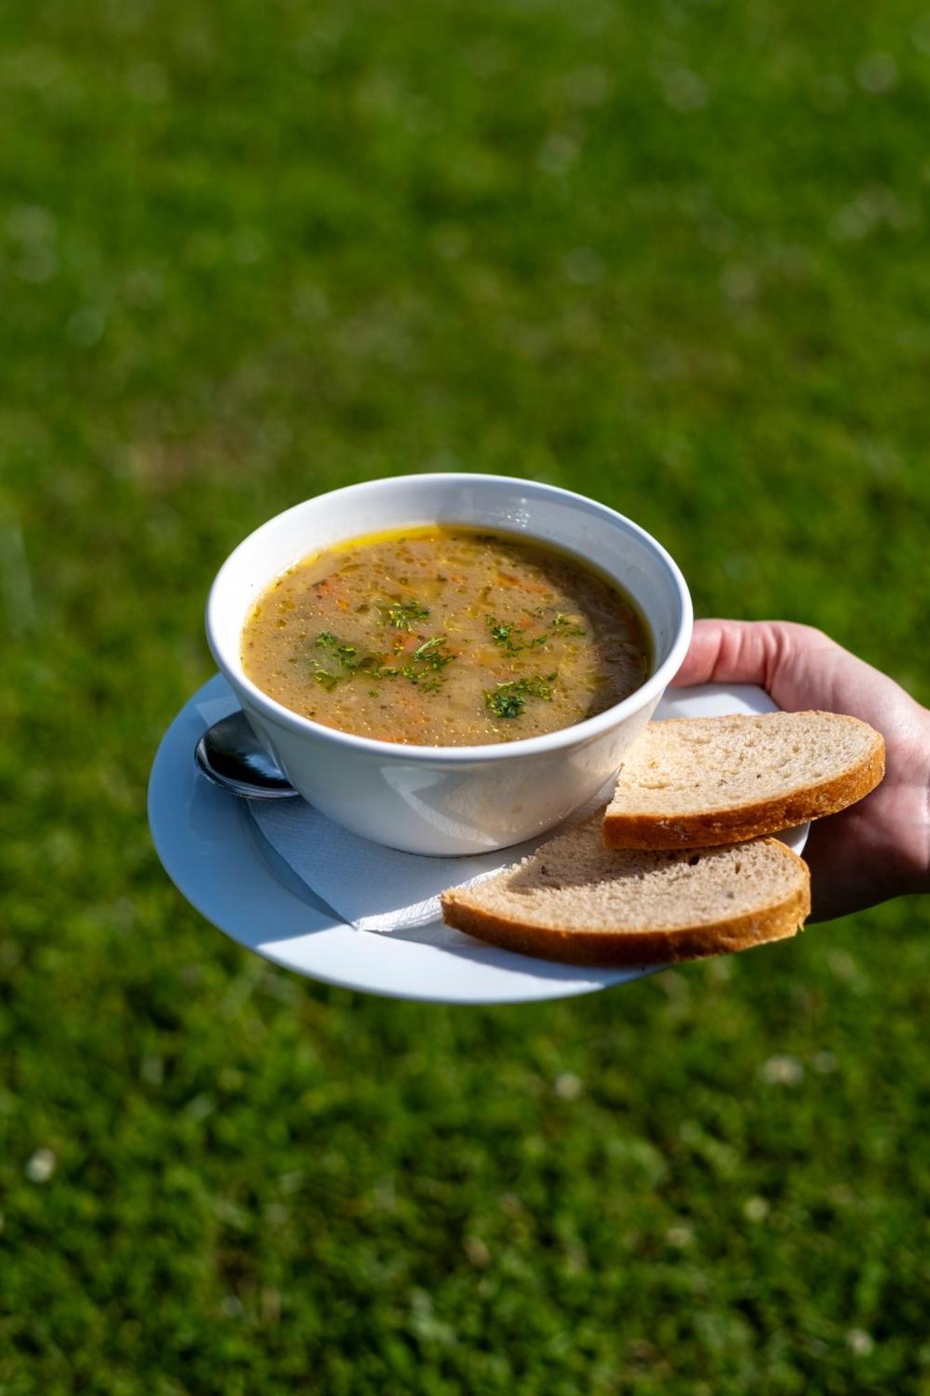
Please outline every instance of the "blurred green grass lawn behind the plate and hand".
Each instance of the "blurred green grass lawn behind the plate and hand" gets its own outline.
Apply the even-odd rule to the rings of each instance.
[[[930,914],[578,1002],[172,889],[226,551],[525,475],[930,698],[927,0],[3,8],[3,1396],[930,1392]]]

